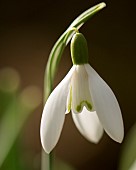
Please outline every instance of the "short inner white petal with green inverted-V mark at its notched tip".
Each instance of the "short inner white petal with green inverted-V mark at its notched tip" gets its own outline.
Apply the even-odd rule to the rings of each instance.
[[[85,106],[92,111],[92,99],[89,91],[88,74],[84,65],[77,65],[71,79],[72,103],[71,108],[74,113],[82,112]]]

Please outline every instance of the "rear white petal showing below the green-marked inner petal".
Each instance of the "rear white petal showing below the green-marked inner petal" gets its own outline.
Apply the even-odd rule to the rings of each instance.
[[[96,112],[90,112],[85,107],[79,114],[72,113],[73,120],[80,133],[89,141],[98,143],[103,134]]]

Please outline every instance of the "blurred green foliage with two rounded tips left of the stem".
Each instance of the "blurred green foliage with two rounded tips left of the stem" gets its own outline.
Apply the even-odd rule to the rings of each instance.
[[[18,138],[29,115],[41,103],[35,86],[20,90],[20,76],[12,68],[0,71],[0,169],[31,169],[25,162]]]

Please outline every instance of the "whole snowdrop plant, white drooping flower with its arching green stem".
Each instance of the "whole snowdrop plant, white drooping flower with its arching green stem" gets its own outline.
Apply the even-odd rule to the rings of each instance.
[[[104,130],[117,142],[123,139],[123,121],[117,99],[110,87],[89,65],[87,42],[78,32],[105,6],[102,2],[79,15],[60,36],[49,55],[44,78],[45,106],[40,127],[41,143],[45,151],[42,151],[42,170],[53,169],[51,150],[59,140],[65,115],[70,111],[76,127],[89,141],[97,143]],[[73,66],[53,90],[57,67],[71,38]]]

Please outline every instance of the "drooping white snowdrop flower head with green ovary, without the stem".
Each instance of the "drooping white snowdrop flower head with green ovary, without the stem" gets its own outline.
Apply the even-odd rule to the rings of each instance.
[[[41,143],[47,153],[57,144],[65,120],[72,112],[77,129],[89,141],[97,143],[103,131],[122,142],[123,120],[115,95],[88,64],[87,42],[81,33],[71,41],[73,67],[50,94],[41,119]]]

